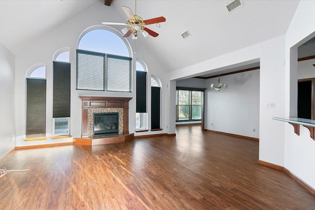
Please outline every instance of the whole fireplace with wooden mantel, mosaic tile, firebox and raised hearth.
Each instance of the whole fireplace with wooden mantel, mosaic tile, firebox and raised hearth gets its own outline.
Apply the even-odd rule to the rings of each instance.
[[[102,96],[80,96],[80,98],[82,99],[82,135],[81,138],[73,138],[73,144],[93,146],[133,139],[133,133],[129,134],[128,119],[129,101],[132,98]],[[108,135],[113,132],[117,134]]]

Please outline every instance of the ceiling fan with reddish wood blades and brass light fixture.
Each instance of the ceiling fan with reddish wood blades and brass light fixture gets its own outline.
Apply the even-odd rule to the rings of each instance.
[[[148,20],[143,20],[142,17],[137,15],[137,0],[135,0],[135,14],[133,15],[131,9],[126,6],[122,6],[122,9],[126,13],[128,20],[127,23],[113,23],[113,22],[102,22],[103,25],[123,25],[126,26],[122,30],[124,37],[130,36],[132,33],[132,39],[137,39],[138,32],[141,32],[144,37],[151,35],[153,37],[157,37],[158,33],[148,29],[146,26],[150,24],[156,24],[165,22],[166,19],[164,17],[152,18]]]

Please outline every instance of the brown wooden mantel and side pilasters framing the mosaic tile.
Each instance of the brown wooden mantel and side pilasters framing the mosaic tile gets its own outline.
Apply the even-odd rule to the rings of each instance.
[[[123,134],[129,134],[129,101],[128,97],[101,97],[79,96],[82,100],[82,138],[88,135],[88,109],[89,108],[123,108],[124,128]]]

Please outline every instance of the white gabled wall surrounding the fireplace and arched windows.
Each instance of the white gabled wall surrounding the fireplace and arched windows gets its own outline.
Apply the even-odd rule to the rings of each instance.
[[[91,15],[93,14],[93,15]],[[72,142],[72,138],[68,139],[55,139],[52,140],[52,60],[56,51],[62,48],[70,49],[70,62],[71,62],[71,118],[70,118],[70,134],[73,137],[81,136],[81,112],[82,105],[80,95],[89,96],[113,96],[113,97],[132,97],[129,102],[129,133],[134,133],[135,130],[135,85],[133,85],[132,92],[107,92],[107,91],[91,91],[91,90],[75,90],[75,76],[76,76],[76,46],[77,40],[80,34],[91,27],[94,28],[106,28],[106,26],[100,25],[101,22],[110,20],[112,22],[124,22],[125,17],[119,17],[120,14],[113,6],[104,6],[102,1],[97,1],[91,7],[81,12],[74,18],[70,19],[63,24],[60,28],[53,30],[45,37],[33,43],[30,47],[24,51],[19,52],[16,55],[16,79],[15,79],[15,91],[16,91],[16,146],[29,146],[29,145],[42,145],[42,144],[54,144],[63,142]],[[118,27],[119,28],[119,27]],[[122,28],[122,27],[120,27]],[[119,30],[116,30],[121,33]],[[152,38],[152,37],[147,37]],[[131,37],[128,38],[128,42],[132,43],[134,51],[134,41],[131,42]],[[138,38],[137,43],[145,42],[143,37]],[[163,69],[158,64],[153,56],[150,56],[150,52],[146,49],[145,44],[137,44],[136,53],[131,55],[135,60],[139,57],[146,62],[148,66],[148,81],[150,81],[151,74],[158,77],[162,86],[162,131],[156,132],[141,132],[135,135],[147,135],[157,133],[167,133],[166,128],[166,114],[165,105],[163,101],[166,100],[168,94],[166,88],[166,77]],[[46,107],[46,137],[44,141],[31,141],[25,142],[23,139],[25,135],[25,77],[27,71],[37,63],[46,64],[46,79],[47,79],[47,107]],[[133,69],[133,75],[135,75],[135,68]],[[133,84],[135,84],[135,77],[133,76]],[[148,112],[149,112],[149,128],[150,128],[150,111],[151,111],[151,84],[148,84]]]

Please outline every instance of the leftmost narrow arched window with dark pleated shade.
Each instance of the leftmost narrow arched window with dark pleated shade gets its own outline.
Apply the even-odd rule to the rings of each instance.
[[[46,67],[37,64],[28,72],[26,78],[26,137],[45,137]]]

